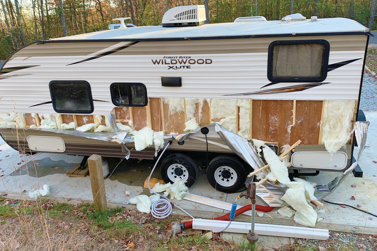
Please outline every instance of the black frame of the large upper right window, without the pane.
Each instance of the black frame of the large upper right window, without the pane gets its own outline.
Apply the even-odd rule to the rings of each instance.
[[[295,44],[322,44],[325,46],[325,53],[322,54],[322,77],[321,78],[275,78],[272,76],[273,71],[273,47],[275,45],[295,45]],[[271,82],[280,82],[280,83],[287,83],[287,82],[322,82],[327,78],[327,68],[329,62],[329,52],[330,52],[330,44],[328,41],[323,39],[317,40],[282,40],[282,41],[273,41],[270,46],[268,46],[268,61],[267,61],[267,78]]]

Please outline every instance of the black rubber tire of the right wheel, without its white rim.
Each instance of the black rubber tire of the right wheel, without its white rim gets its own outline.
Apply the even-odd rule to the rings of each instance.
[[[224,186],[224,185],[219,184],[216,181],[214,173],[216,172],[216,170],[218,170],[222,166],[230,167],[230,169],[226,169],[226,168],[224,169],[225,172],[228,172],[228,173],[225,173],[225,174],[234,176],[232,169],[234,170],[234,172],[237,175],[236,181],[235,182],[233,181],[234,184],[230,183],[230,186]],[[221,175],[223,174],[223,172],[224,171],[221,171]],[[216,175],[219,175],[219,174],[217,173]],[[246,180],[246,176],[247,176],[247,173],[246,173],[246,169],[245,169],[244,165],[241,163],[241,161],[239,161],[237,158],[234,158],[234,157],[218,156],[218,157],[214,158],[213,160],[211,160],[211,162],[210,162],[210,164],[207,168],[207,180],[208,180],[208,182],[211,184],[211,186],[213,188],[215,188],[216,190],[219,190],[220,192],[224,192],[224,193],[235,193],[235,192],[238,192],[240,189],[244,190],[244,188],[245,188],[244,183],[245,183],[245,180]],[[219,178],[220,178],[220,180],[222,180],[224,182],[227,182],[227,181],[232,182],[231,177],[230,178],[224,178],[224,176],[219,175]]]

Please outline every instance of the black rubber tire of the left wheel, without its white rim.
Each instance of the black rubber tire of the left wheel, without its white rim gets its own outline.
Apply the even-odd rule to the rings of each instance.
[[[195,161],[191,157],[185,154],[170,154],[164,159],[164,161],[162,161],[162,164],[161,164],[162,180],[164,180],[166,183],[169,183],[169,182],[174,183],[174,180],[170,179],[169,176],[174,177],[176,176],[176,174],[175,173],[171,173],[171,175],[168,174],[169,167],[174,164],[181,164],[182,166],[185,167],[185,169],[188,172],[187,174],[188,177],[185,184],[187,187],[192,186],[192,184],[194,184],[196,180],[196,177],[198,177],[198,168],[196,167]],[[182,172],[184,172],[183,169],[181,170]]]

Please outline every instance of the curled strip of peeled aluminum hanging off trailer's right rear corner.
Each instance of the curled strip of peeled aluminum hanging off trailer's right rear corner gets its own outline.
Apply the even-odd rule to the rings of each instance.
[[[355,123],[355,136],[357,145],[359,146],[359,154],[357,155],[357,160],[342,174],[338,175],[333,181],[327,185],[317,185],[314,188],[316,191],[314,195],[317,199],[324,199],[326,196],[330,195],[335,191],[337,187],[348,177],[348,175],[355,169],[360,157],[365,149],[366,137],[368,135],[369,121],[357,121]]]

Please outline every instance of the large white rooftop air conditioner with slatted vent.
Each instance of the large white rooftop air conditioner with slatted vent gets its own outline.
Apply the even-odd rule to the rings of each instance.
[[[178,6],[165,12],[162,27],[198,26],[205,20],[204,5]]]

